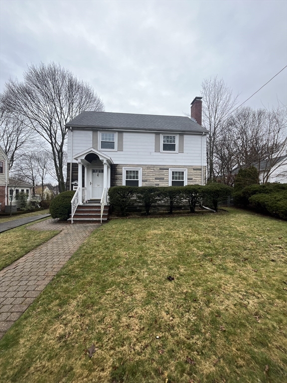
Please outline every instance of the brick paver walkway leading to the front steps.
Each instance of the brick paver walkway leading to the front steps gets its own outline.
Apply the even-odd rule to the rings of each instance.
[[[100,224],[48,219],[29,230],[61,230],[46,243],[0,271],[0,339]]]

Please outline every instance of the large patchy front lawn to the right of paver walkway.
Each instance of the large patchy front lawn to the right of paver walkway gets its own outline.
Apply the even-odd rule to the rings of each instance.
[[[285,383],[286,249],[242,210],[112,220],[2,338],[0,381]]]

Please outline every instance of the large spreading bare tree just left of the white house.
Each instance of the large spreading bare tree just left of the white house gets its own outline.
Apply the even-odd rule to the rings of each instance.
[[[23,82],[10,79],[1,102],[10,113],[26,118],[29,127],[49,143],[59,190],[63,192],[65,125],[83,111],[104,111],[101,98],[89,84],[52,62],[29,66]]]

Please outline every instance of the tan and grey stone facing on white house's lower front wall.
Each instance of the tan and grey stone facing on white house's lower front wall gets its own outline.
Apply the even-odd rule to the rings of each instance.
[[[168,170],[187,169],[187,184],[201,184],[200,166],[166,166],[166,165],[112,165],[111,186],[123,185],[123,168],[142,168],[142,186],[168,186]],[[205,167],[203,182],[205,183]]]

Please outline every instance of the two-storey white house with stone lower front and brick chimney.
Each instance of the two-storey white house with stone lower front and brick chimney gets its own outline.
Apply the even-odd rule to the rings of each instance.
[[[111,186],[205,184],[206,135],[201,97],[191,118],[83,112],[68,128],[67,190],[79,188],[81,204],[107,203]],[[195,121],[196,119],[196,121]]]

